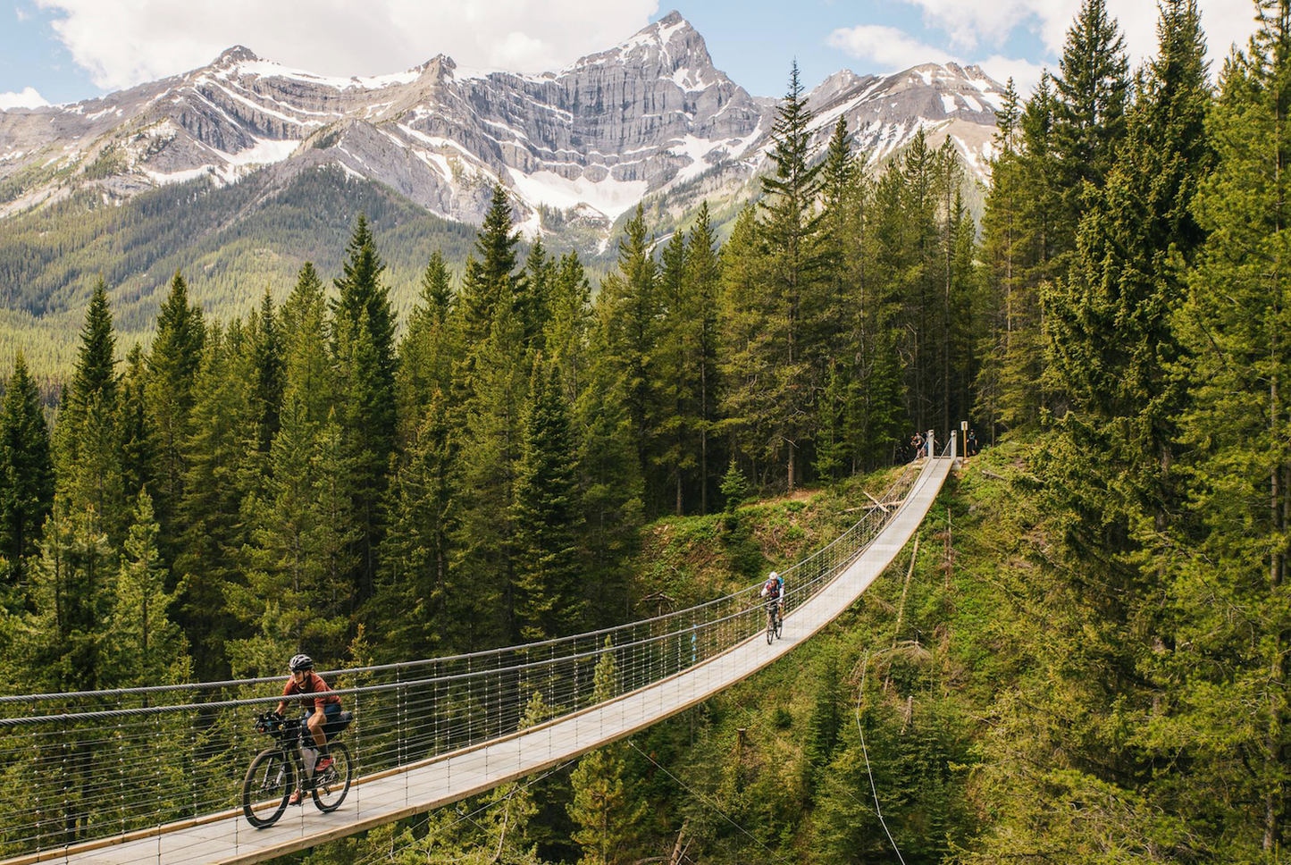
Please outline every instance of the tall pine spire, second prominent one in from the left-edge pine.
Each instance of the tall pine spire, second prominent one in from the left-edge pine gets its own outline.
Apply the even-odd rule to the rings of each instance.
[[[188,303],[188,284],[179,271],[158,314],[158,336],[148,355],[148,382],[145,389],[148,430],[152,434],[154,500],[161,524],[161,558],[173,562],[179,534],[178,507],[183,498],[183,478],[188,465],[183,449],[192,431],[191,413],[196,399],[194,383],[201,364],[205,340],[201,310]]]

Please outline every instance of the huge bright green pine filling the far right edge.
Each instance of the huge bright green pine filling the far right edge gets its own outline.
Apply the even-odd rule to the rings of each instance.
[[[1193,545],[1189,554],[1167,559],[1174,578],[1163,596],[1171,602],[1172,627],[1150,667],[1154,679],[1172,686],[1170,711],[1153,719],[1153,740],[1184,757],[1195,785],[1180,806],[1192,820],[1216,826],[1216,857],[1230,861],[1272,861],[1285,846],[1283,778],[1291,755],[1291,232],[1283,205],[1291,195],[1291,4],[1263,4],[1261,14],[1247,50],[1225,65],[1206,123],[1217,159],[1214,173],[1198,178],[1192,208],[1206,240],[1175,314],[1188,350],[1179,374],[1192,396],[1179,431],[1192,524],[1171,536],[1190,537]],[[1174,43],[1185,57],[1195,56],[1194,17],[1190,3],[1163,9],[1158,68],[1195,68],[1190,59],[1168,59],[1167,48]],[[1188,127],[1194,115],[1184,108],[1192,98],[1185,88],[1177,96],[1174,120]],[[1184,214],[1150,216],[1170,225]],[[1180,245],[1189,235],[1186,227],[1177,230]],[[1234,604],[1239,618],[1224,612]],[[1198,736],[1215,731],[1215,719],[1237,718],[1242,722],[1219,722],[1232,733],[1221,749],[1207,745],[1208,735]]]

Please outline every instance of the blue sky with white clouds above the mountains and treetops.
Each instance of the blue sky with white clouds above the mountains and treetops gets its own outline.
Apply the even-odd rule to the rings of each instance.
[[[1081,0],[0,0],[0,110],[77,102],[204,66],[230,45],[320,75],[398,72],[436,54],[541,72],[611,48],[671,9],[714,65],[778,97],[840,68],[980,63],[1021,93],[1056,68]],[[1255,30],[1252,0],[1198,0],[1212,72]],[[1109,0],[1133,62],[1155,0]]]

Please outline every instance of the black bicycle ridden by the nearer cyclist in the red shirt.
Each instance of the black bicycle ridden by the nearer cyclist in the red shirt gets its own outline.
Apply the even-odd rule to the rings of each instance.
[[[297,777],[303,778],[300,786],[311,794],[319,811],[328,813],[340,808],[350,791],[354,764],[350,749],[337,740],[351,720],[354,715],[342,711],[337,720],[323,726],[332,766],[315,775],[312,763],[309,771],[305,768],[303,745],[310,733],[303,719],[283,718],[275,711],[259,715],[256,732],[271,736],[274,745],[256,755],[243,778],[241,803],[247,822],[256,829],[267,829],[278,822],[287,811],[292,791],[297,789]]]

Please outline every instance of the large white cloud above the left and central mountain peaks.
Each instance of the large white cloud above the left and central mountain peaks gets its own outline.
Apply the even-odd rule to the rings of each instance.
[[[444,53],[463,66],[558,68],[649,22],[658,0],[36,0],[93,81],[176,75],[247,45],[321,75],[396,72]]]

